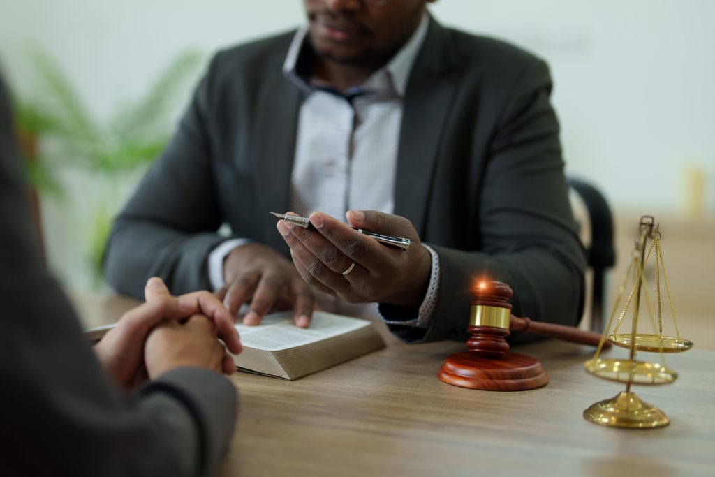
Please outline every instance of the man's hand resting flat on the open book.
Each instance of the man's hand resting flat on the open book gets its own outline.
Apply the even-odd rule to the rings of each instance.
[[[217,295],[224,299],[231,316],[250,302],[245,325],[259,325],[273,308],[295,310],[297,326],[307,328],[315,297],[295,266],[270,247],[247,244],[235,248],[224,262],[226,286]]]

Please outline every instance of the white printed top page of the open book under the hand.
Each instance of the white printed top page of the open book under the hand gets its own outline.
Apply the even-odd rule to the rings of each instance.
[[[293,324],[291,310],[266,315],[258,326],[242,324],[235,326],[241,335],[241,343],[244,346],[277,351],[349,333],[352,330],[370,326],[370,322],[316,311],[313,313],[310,328],[298,328]]]

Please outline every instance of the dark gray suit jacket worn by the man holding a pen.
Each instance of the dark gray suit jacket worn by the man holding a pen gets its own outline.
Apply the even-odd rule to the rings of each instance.
[[[114,223],[105,273],[119,292],[139,295],[150,275],[174,292],[209,286],[207,255],[222,241],[222,222],[237,237],[287,253],[267,212],[287,210],[290,197],[303,99],[281,72],[291,39],[217,54],[177,133]],[[405,94],[395,214],[435,247],[442,275],[430,330],[392,327],[405,340],[461,337],[468,287],[482,275],[513,287],[519,315],[578,320],[585,258],[550,92],[541,60],[430,19]]]

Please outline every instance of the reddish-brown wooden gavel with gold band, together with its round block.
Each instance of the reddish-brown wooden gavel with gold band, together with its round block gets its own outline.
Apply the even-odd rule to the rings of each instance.
[[[507,300],[513,290],[506,283],[479,282],[472,294],[475,300],[470,303],[469,350],[445,359],[438,374],[445,383],[492,391],[521,391],[546,385],[548,377],[538,360],[509,351],[504,338],[510,335],[510,329],[593,346],[601,339],[597,333],[511,315]]]

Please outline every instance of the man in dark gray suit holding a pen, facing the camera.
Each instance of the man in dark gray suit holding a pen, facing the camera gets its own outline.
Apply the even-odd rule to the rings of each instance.
[[[427,3],[305,0],[307,28],[217,54],[114,223],[110,284],[211,286],[231,313],[250,302],[245,323],[289,305],[300,326],[319,290],[380,303],[415,342],[463,335],[487,277],[513,287],[514,313],[575,324],[585,258],[548,68]],[[316,230],[267,213],[286,210],[322,213]],[[345,211],[413,245],[378,246]]]

